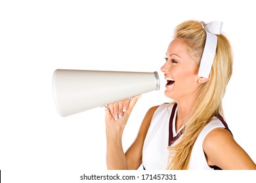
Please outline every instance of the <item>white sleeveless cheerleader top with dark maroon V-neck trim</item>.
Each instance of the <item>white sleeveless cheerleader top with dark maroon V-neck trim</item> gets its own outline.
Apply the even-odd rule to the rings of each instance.
[[[169,150],[167,147],[172,146],[182,138],[183,127],[179,131],[176,131],[175,128],[176,116],[177,104],[164,103],[154,112],[142,150],[142,165],[144,169],[165,170],[167,168],[169,162]],[[188,169],[219,169],[217,166],[210,167],[207,164],[203,152],[203,139],[211,130],[217,127],[228,129],[221,116],[218,116],[218,118],[213,117],[211,122],[205,125],[198,135],[192,148]]]

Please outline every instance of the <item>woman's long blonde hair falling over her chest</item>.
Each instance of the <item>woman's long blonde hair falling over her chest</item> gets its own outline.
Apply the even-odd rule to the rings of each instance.
[[[186,44],[190,56],[199,67],[206,39],[206,33],[200,22],[190,20],[178,25],[175,38]],[[224,115],[221,100],[232,75],[232,60],[230,42],[223,34],[217,35],[217,50],[209,81],[202,84],[198,90],[197,100],[190,116],[186,119],[181,141],[169,147],[171,161],[167,169],[188,169],[192,148],[200,131],[213,116]]]

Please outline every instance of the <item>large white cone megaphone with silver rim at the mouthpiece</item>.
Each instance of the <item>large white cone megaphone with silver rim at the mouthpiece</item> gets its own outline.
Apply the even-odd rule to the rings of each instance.
[[[157,72],[83,71],[57,69],[53,73],[53,94],[60,116],[160,89]]]

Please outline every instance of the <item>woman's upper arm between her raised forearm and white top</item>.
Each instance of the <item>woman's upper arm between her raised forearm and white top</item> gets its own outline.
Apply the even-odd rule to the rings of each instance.
[[[125,152],[128,169],[138,169],[142,163],[142,148],[144,140],[156,108],[158,108],[158,106],[152,107],[148,110],[142,120],[142,124],[140,125],[139,133],[135,141],[131,144],[127,152]]]

